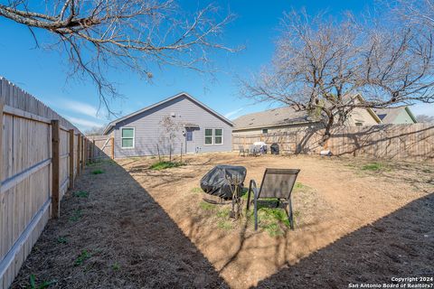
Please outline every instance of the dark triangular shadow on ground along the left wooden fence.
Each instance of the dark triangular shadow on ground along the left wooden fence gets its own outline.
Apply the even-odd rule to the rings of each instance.
[[[103,173],[93,174],[94,170]],[[88,166],[61,202],[13,288],[221,288],[212,264],[118,163]],[[54,281],[55,280],[55,281]]]

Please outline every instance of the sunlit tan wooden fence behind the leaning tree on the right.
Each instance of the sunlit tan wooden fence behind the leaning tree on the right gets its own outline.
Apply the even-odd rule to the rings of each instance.
[[[239,145],[263,141],[277,143],[284,154],[319,154],[329,149],[334,155],[352,155],[390,160],[434,162],[434,125],[337,126],[325,146],[319,145],[320,126],[289,128],[275,134],[232,136],[233,150]]]

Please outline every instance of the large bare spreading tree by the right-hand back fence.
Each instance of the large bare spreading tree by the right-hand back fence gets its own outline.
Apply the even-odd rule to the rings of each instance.
[[[357,107],[434,101],[433,35],[410,25],[392,30],[324,14],[286,14],[271,64],[243,81],[243,93],[319,117],[322,143]],[[383,29],[384,28],[384,29]],[[364,101],[356,101],[360,94]]]

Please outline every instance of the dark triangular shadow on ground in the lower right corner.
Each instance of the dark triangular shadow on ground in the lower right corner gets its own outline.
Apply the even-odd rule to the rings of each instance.
[[[338,239],[296,265],[259,282],[259,288],[347,288],[391,284],[392,277],[432,276],[434,191]]]

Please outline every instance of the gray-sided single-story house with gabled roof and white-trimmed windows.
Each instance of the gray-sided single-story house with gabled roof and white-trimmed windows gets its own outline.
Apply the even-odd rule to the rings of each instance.
[[[171,141],[164,121],[175,124]],[[231,151],[232,122],[187,93],[118,118],[104,135],[115,140],[115,157]]]

